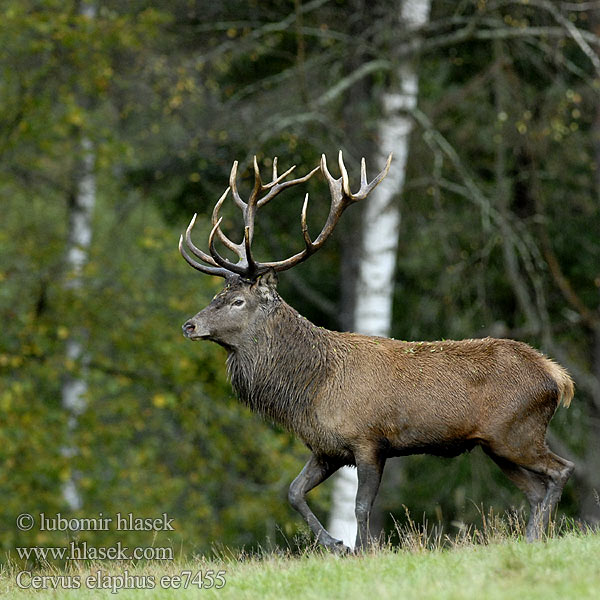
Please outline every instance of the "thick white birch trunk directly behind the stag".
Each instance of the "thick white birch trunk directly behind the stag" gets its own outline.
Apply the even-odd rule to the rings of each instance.
[[[429,18],[431,0],[404,0],[401,23],[412,29]],[[378,149],[370,161],[377,170],[394,153],[388,176],[373,190],[365,202],[362,245],[357,278],[354,330],[367,335],[389,336],[392,322],[394,270],[400,227],[400,207],[395,198],[402,192],[406,175],[409,136],[412,130],[410,111],[416,107],[418,78],[411,61],[398,65],[398,89],[382,98],[378,127]],[[344,467],[334,478],[329,532],[346,546],[354,547],[356,518],[354,500],[358,481],[356,470]]]

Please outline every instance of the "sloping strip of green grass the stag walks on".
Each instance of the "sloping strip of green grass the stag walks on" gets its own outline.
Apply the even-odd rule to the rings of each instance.
[[[216,559],[196,559],[140,565],[98,563],[58,570],[46,567],[37,574],[71,575],[81,580],[80,590],[65,590],[64,582],[45,590],[20,589],[16,584],[18,567],[0,572],[0,595],[21,599],[36,598],[153,598],[225,599],[343,599],[390,598],[435,600],[543,599],[567,600],[598,598],[600,590],[600,535],[569,532],[550,536],[544,542],[527,544],[514,523],[494,519],[484,521],[482,530],[463,531],[459,536],[442,538],[409,521],[399,529],[402,549],[379,548],[360,556],[335,556],[309,548],[299,555],[290,552],[249,556],[241,553]],[[199,589],[198,581],[187,589],[164,589],[161,578],[172,579],[189,570],[192,574],[211,570],[223,573],[221,589]],[[101,570],[119,585],[127,571],[130,585],[138,589],[94,590],[86,578]],[[145,577],[146,579],[142,579]],[[154,589],[140,589],[154,580]],[[29,576],[23,580],[31,581]],[[218,581],[218,580],[217,580]]]

